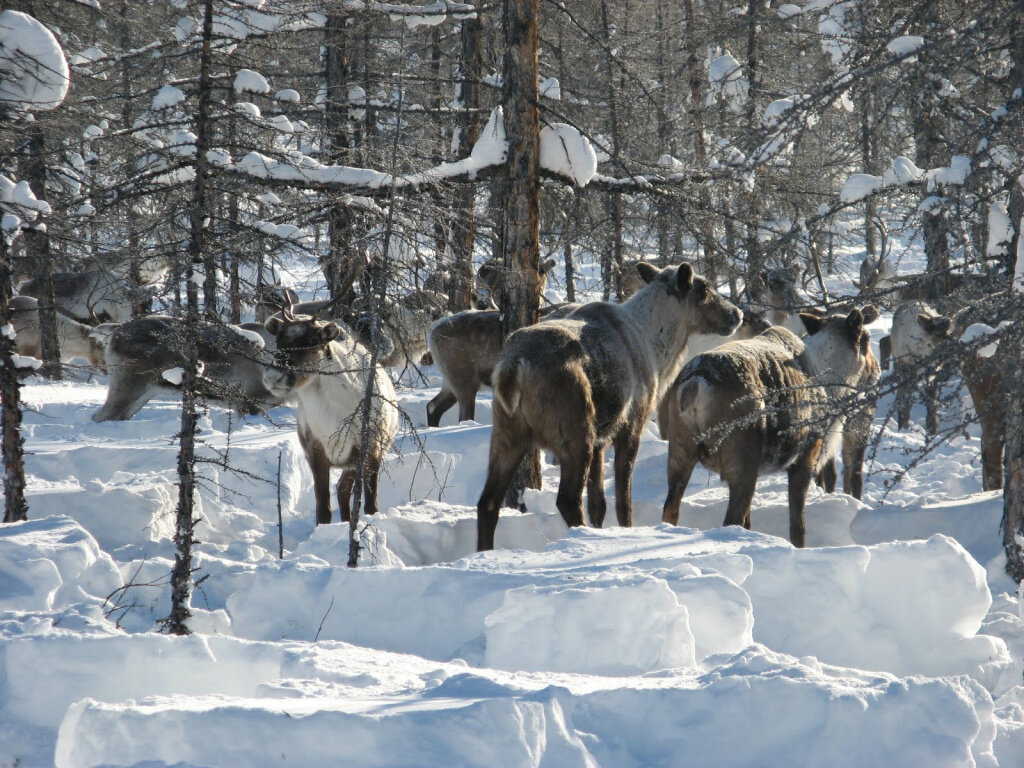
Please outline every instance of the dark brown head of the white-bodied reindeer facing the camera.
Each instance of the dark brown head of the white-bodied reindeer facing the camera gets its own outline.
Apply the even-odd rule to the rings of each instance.
[[[275,397],[287,397],[315,375],[328,346],[343,333],[337,323],[308,314],[292,314],[291,307],[265,325],[276,340],[273,364],[263,370],[263,386]]]

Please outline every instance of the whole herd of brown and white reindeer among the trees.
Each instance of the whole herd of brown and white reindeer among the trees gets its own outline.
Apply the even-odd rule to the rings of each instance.
[[[542,276],[554,265],[542,265]],[[843,489],[860,498],[878,383],[891,359],[898,382],[897,422],[909,422],[912,376],[906,373],[964,331],[962,316],[943,315],[913,298],[910,284],[891,335],[873,355],[867,326],[873,304],[856,299],[827,310],[801,301],[785,269],[762,273],[757,304],[740,309],[689,263],[629,266],[623,303],[593,301],[542,310],[541,321],[503,343],[504,273],[486,262],[477,272],[473,309],[446,314],[446,297],[426,288],[382,313],[334,302],[299,302],[290,289],[257,295],[254,323],[203,324],[197,386],[203,396],[246,413],[289,402],[314,485],[316,522],[332,519],[330,472],[340,468],[341,519],[350,519],[357,471],[364,509],[377,511],[381,462],[398,429],[392,373],[421,360],[442,378],[427,406],[427,424],[458,403],[472,420],[476,395],[490,387],[493,431],[486,480],[477,504],[477,549],[495,546],[499,509],[520,462],[545,450],[557,462],[557,507],[569,526],[604,522],[604,452],[614,453],[615,516],[633,520],[632,476],[641,434],[652,417],[669,442],[663,521],[677,524],[694,467],[717,472],[729,488],[726,525],[751,526],[759,476],[788,473],[790,539],[805,544],[804,506],[814,481],[829,493],[843,463]],[[626,280],[629,278],[629,280]],[[867,292],[894,282],[865,260],[854,285]],[[61,358],[84,358],[108,375],[96,422],[131,419],[152,397],[179,384],[186,364],[184,322],[132,317],[128,284],[95,269],[53,278]],[[17,353],[41,357],[39,296],[34,281],[11,302]],[[796,311],[802,307],[804,311]],[[840,308],[842,307],[842,308]],[[383,315],[383,316],[382,316]],[[1005,414],[1001,371],[979,352],[961,369],[982,428],[982,477],[1001,487]],[[938,428],[937,383],[926,378],[926,427]],[[369,401],[367,399],[370,395]]]

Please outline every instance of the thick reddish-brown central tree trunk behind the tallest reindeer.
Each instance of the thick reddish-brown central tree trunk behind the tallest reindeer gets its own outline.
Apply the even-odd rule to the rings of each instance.
[[[541,309],[541,120],[537,99],[540,0],[504,0],[502,106],[508,161],[502,217],[502,335],[531,326]],[[521,507],[522,488],[541,486],[540,457],[530,452],[506,497]]]

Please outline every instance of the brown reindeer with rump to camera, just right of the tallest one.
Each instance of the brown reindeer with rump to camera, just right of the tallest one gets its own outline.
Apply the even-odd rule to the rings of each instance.
[[[697,462],[729,485],[725,524],[746,528],[758,476],[785,469],[790,541],[804,546],[807,488],[836,453],[845,418],[838,401],[863,373],[867,331],[858,309],[801,318],[806,342],[775,327],[697,355],[680,372],[671,390],[664,522],[679,522]]]

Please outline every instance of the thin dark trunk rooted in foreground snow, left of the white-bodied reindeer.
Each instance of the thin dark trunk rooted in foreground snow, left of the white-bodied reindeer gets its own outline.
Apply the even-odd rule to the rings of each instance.
[[[185,324],[182,339],[185,352],[181,379],[181,432],[178,447],[178,508],[174,528],[174,567],[171,570],[171,613],[164,620],[164,629],[173,635],[190,634],[193,543],[196,525],[196,432],[197,378],[199,372],[200,306],[199,287],[193,279],[197,265],[205,264],[206,222],[209,217],[207,200],[207,151],[212,132],[211,102],[213,82],[210,76],[213,39],[213,0],[205,0],[203,13],[203,47],[200,53],[198,108],[196,115],[196,177],[193,182],[189,211],[188,261],[185,265]],[[205,288],[205,286],[204,286]],[[209,307],[208,307],[209,309]]]

